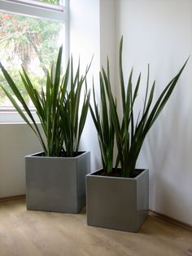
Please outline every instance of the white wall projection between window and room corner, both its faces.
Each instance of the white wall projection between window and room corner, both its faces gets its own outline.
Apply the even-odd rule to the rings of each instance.
[[[107,55],[111,60],[112,78],[115,77],[116,22],[115,0],[71,0],[70,1],[70,51],[73,56],[80,55],[81,63],[93,62],[88,74],[88,85],[92,89],[92,77],[96,95],[99,92],[98,72],[107,63]],[[81,68],[83,69],[83,68]],[[98,97],[98,104],[99,104]],[[102,167],[98,136],[90,114],[81,139],[81,149],[91,152],[91,170]]]

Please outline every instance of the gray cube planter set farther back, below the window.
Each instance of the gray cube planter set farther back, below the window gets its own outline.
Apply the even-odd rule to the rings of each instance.
[[[78,213],[85,206],[90,153],[78,157],[25,157],[28,210]]]

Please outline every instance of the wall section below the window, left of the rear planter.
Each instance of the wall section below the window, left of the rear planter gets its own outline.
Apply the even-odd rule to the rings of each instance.
[[[24,195],[24,156],[41,151],[25,124],[0,124],[0,198]]]

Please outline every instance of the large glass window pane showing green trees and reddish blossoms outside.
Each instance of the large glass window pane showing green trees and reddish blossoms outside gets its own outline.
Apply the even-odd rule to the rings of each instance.
[[[30,101],[20,81],[21,65],[37,88],[45,86],[46,68],[50,68],[50,64],[56,60],[59,46],[64,40],[63,30],[63,24],[59,22],[0,12],[0,60],[29,106]],[[0,83],[5,84],[2,72]],[[0,108],[8,106],[11,103],[0,90]]]

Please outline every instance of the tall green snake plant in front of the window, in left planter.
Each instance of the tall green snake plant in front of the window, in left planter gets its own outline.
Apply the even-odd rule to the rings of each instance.
[[[80,67],[78,66],[75,78],[73,79],[71,58],[68,61],[66,72],[61,77],[62,51],[63,48],[61,46],[56,65],[52,65],[50,72],[46,71],[46,90],[41,86],[41,91],[38,91],[36,86],[30,81],[24,68],[22,68],[23,73],[20,73],[28,96],[36,108],[42,130],[37,125],[37,121],[35,121],[15,82],[2,66],[2,63],[0,63],[2,73],[20,104],[7,90],[7,86],[0,86],[8,99],[11,100],[16,111],[37,135],[46,157],[73,157],[73,152],[78,150],[89,108],[89,92],[87,91],[85,92],[82,108],[79,108],[81,89],[89,68],[87,68],[85,75],[80,77]],[[68,136],[68,129],[70,130],[70,136]],[[74,140],[76,143],[74,143]]]

